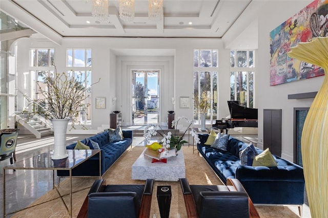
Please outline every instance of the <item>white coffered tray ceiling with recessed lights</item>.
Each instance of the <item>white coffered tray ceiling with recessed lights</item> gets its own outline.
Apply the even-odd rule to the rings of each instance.
[[[119,18],[118,0],[108,2],[106,21],[92,16],[92,0],[0,0],[0,9],[53,41],[64,37],[222,38],[250,5],[261,1],[163,0],[160,21],[149,20],[147,0],[135,0],[133,21]]]

